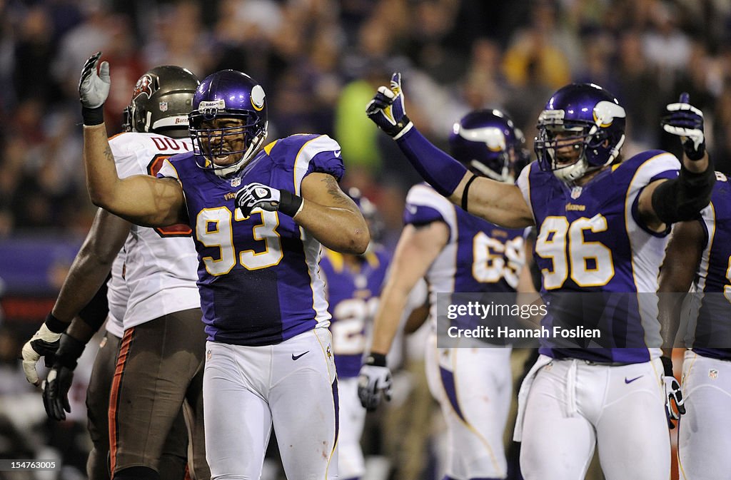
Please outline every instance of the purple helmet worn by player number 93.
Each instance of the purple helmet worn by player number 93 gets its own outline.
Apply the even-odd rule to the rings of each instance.
[[[199,167],[216,175],[238,172],[254,158],[267,136],[267,102],[256,80],[236,70],[208,75],[193,97],[190,137]],[[212,126],[219,119],[243,121],[241,125]],[[216,164],[216,158],[240,155],[232,164]]]

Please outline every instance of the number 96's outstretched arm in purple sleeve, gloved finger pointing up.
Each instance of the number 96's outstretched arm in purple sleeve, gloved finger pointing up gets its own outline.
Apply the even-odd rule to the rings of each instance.
[[[390,88],[379,87],[366,113],[393,137],[424,180],[455,205],[506,228],[534,224],[530,207],[517,186],[476,177],[417,131],[406,115],[400,73],[393,74]]]

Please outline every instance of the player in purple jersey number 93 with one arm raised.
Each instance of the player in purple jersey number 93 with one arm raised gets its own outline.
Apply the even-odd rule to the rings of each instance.
[[[102,118],[109,66],[79,91],[92,201],[137,224],[186,223],[198,251],[211,477],[256,479],[272,424],[291,478],[336,475],[338,397],[321,245],[362,254],[368,226],[338,186],[340,146],[301,134],[265,145],[267,99],[248,75],[206,77],[191,106],[193,151],[158,178],[118,178]]]

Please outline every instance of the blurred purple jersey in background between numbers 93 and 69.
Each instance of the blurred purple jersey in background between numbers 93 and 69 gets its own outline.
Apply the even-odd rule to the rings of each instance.
[[[380,246],[361,257],[357,270],[345,264],[343,255],[325,249],[320,275],[325,279],[330,332],[338,378],[357,377],[366,350],[366,326],[378,308],[378,297],[390,262]]]

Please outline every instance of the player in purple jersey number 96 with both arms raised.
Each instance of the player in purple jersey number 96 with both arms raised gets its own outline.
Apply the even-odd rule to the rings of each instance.
[[[515,185],[431,145],[406,116],[401,74],[366,107],[436,191],[495,224],[537,226],[550,335],[518,394],[528,480],[581,479],[596,447],[608,480],[670,476],[665,408],[679,386],[661,360],[659,267],[670,225],[708,205],[715,180],[702,115],[688,102],[669,104],[663,124],[681,137],[682,163],[664,151],[624,160],[624,107],[598,85],[566,85],[539,115],[538,161]],[[600,338],[563,337],[586,327]]]

